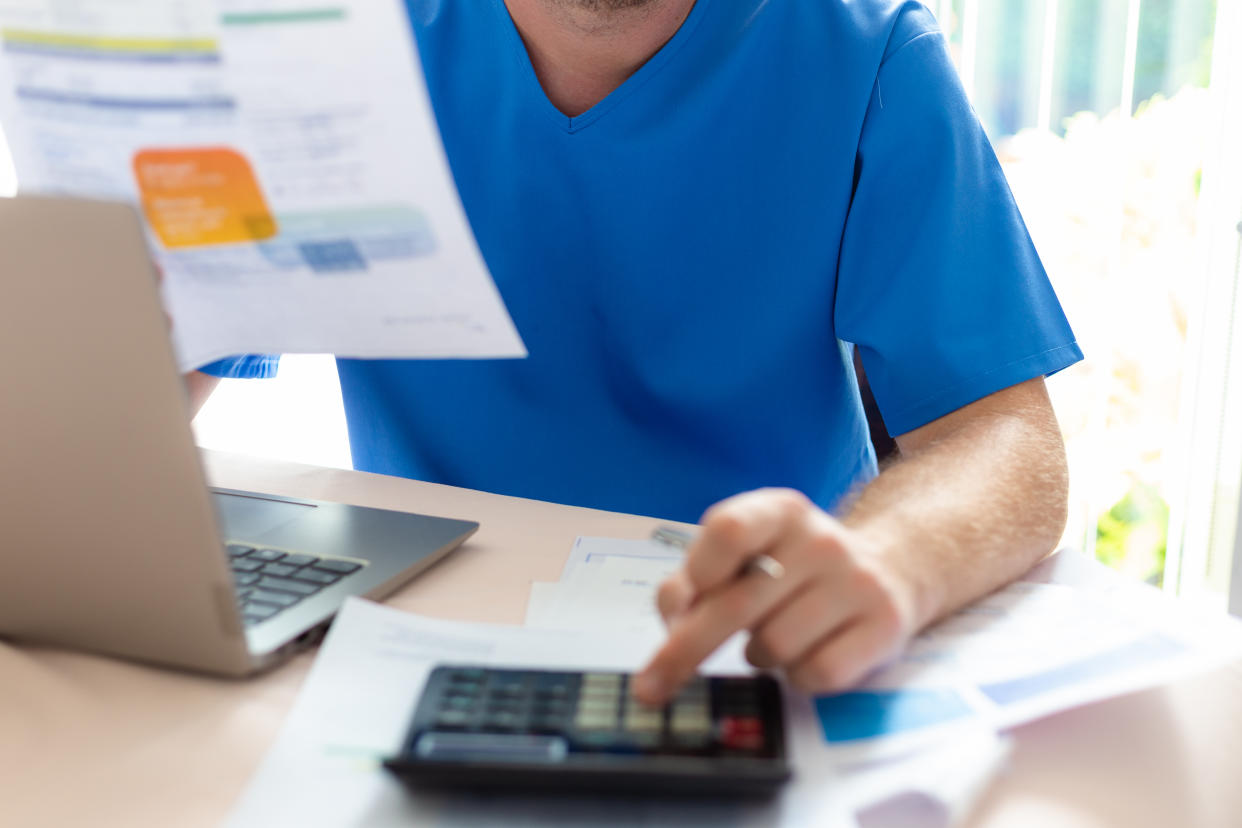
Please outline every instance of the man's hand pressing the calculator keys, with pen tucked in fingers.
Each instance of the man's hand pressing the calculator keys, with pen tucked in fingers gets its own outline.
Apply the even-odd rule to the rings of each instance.
[[[758,554],[784,574],[745,572]],[[895,654],[920,621],[909,585],[864,535],[785,489],[713,506],[658,603],[668,642],[635,688],[651,704],[667,700],[738,629],[751,631],[751,664],[784,668],[794,686],[825,693]]]

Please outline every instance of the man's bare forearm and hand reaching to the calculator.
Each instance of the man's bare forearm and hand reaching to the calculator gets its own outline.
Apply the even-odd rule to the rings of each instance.
[[[660,590],[668,641],[636,683],[658,704],[739,629],[748,658],[809,693],[847,688],[933,621],[1012,581],[1064,529],[1064,444],[1043,380],[992,394],[897,438],[900,459],[840,520],[789,490],[703,518]],[[780,578],[738,572],[759,554]]]

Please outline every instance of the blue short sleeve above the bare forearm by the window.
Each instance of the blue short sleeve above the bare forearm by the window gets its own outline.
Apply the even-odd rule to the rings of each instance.
[[[863,123],[833,308],[891,433],[1082,359],[996,154],[925,12]]]

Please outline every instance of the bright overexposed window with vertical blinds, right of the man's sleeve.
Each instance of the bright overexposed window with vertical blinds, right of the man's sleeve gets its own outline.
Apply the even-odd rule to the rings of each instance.
[[[1236,284],[1220,237],[1235,243],[1242,217],[1218,197],[1240,66],[1212,43],[1242,34],[1237,4],[1223,5],[935,4],[1087,353],[1049,382],[1073,478],[1066,542],[1184,592],[1205,588],[1210,569],[1222,592],[1232,538],[1216,539],[1230,554],[1211,554],[1200,526],[1217,500],[1232,514],[1242,468],[1242,448],[1216,464],[1242,443],[1216,413]]]

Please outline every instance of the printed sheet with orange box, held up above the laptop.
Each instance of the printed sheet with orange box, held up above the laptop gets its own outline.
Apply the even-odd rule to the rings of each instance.
[[[400,0],[0,0],[22,191],[140,205],[183,369],[522,356]]]

